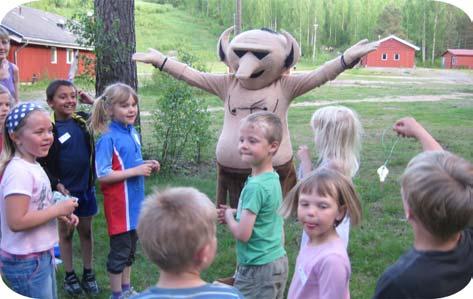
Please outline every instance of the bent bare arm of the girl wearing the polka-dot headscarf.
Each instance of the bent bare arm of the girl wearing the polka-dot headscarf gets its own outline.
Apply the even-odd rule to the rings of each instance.
[[[69,216],[78,205],[74,200],[68,199],[43,210],[29,211],[31,198],[28,195],[12,194],[8,195],[5,200],[6,220],[14,232],[34,228],[56,217]]]

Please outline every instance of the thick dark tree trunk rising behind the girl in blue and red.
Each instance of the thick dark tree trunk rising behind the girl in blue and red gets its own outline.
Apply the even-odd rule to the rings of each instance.
[[[94,0],[96,27],[95,92],[101,94],[112,83],[138,89],[136,63],[135,1]],[[135,125],[139,129],[139,113]]]

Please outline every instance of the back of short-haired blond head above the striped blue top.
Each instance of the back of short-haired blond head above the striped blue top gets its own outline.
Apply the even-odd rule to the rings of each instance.
[[[210,265],[199,251],[215,245],[217,213],[209,198],[194,188],[170,188],[147,197],[138,236],[148,258],[166,272],[182,273]],[[215,250],[213,248],[212,250]]]

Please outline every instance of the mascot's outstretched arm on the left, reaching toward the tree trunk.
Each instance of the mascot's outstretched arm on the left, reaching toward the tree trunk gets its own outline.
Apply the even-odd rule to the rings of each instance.
[[[185,63],[168,58],[154,49],[149,49],[148,53],[135,53],[132,59],[150,63],[178,80],[210,92],[222,100],[225,98],[230,82],[229,75],[200,72]]]

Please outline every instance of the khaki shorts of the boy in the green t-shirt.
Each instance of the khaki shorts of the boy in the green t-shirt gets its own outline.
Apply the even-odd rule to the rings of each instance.
[[[282,299],[288,268],[287,256],[261,266],[238,266],[233,286],[247,299]]]

